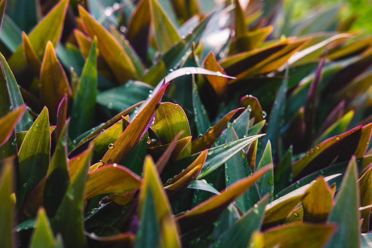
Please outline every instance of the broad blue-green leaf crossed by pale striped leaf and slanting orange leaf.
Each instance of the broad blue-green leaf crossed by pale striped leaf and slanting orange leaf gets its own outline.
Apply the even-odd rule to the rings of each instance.
[[[234,128],[228,124],[226,142],[234,142],[237,140],[238,136],[236,135]],[[230,187],[231,184],[250,174],[252,174],[252,171],[246,163],[246,154],[244,151],[240,151],[240,153],[238,152],[225,162],[225,181],[227,188]],[[243,213],[245,213],[259,200],[260,195],[256,184],[254,184],[253,187],[250,187],[235,201],[235,204]]]

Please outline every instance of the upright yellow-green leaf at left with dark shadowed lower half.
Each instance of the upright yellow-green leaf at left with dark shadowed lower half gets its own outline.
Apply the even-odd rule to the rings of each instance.
[[[23,189],[17,194],[17,206],[21,206],[24,196],[28,196],[47,174],[50,142],[49,114],[47,107],[44,107],[19,148],[20,185]]]

